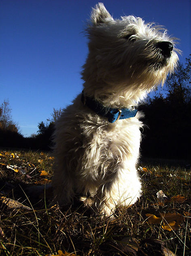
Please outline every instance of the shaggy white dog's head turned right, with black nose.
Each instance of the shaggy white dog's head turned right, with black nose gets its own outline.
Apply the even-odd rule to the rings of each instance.
[[[140,100],[163,84],[178,62],[175,39],[166,30],[140,17],[114,20],[102,3],[92,9],[87,35],[89,55],[82,74],[96,98],[113,92]]]

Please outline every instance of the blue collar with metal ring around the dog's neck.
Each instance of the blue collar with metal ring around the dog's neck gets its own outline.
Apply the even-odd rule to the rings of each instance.
[[[101,115],[103,117],[108,117],[108,121],[110,123],[114,123],[119,119],[127,119],[129,117],[135,117],[138,110],[129,110],[128,108],[106,108],[97,100],[87,97],[84,95],[84,91],[82,91],[81,101],[84,105],[91,108],[91,110],[95,111],[96,114]]]

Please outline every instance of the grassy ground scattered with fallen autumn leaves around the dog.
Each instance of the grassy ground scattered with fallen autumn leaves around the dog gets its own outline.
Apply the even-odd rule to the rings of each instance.
[[[48,194],[29,196],[31,184],[51,181],[53,161],[45,152],[0,152],[0,255],[191,255],[190,169],[140,163],[142,197],[106,222],[80,204],[61,209]],[[160,202],[159,190],[169,199]]]

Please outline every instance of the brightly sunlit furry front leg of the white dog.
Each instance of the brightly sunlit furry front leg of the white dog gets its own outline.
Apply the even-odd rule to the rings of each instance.
[[[102,183],[95,195],[95,207],[102,217],[114,219],[116,206],[134,204],[141,194],[141,183],[134,166],[121,164],[117,171],[109,174],[107,182]]]

